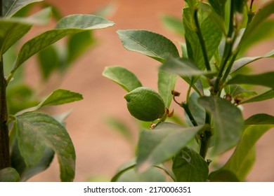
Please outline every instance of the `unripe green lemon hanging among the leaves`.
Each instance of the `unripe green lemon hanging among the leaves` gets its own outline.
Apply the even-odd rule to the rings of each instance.
[[[153,121],[164,114],[164,100],[148,87],[137,87],[124,96],[127,109],[138,120]]]

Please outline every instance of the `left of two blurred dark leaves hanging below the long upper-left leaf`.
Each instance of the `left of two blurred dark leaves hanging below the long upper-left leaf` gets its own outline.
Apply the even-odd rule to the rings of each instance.
[[[39,51],[37,58],[44,80],[48,79],[51,73],[53,73],[55,69],[58,69],[61,64],[60,57],[54,45],[49,45],[44,50]]]

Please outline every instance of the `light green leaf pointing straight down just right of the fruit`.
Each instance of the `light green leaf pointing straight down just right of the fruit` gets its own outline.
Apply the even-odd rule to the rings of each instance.
[[[174,90],[177,76],[159,69],[158,71],[158,91],[164,100],[164,105],[169,108],[172,100],[171,91]]]

